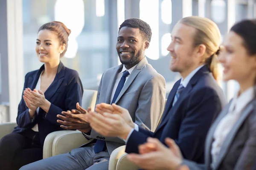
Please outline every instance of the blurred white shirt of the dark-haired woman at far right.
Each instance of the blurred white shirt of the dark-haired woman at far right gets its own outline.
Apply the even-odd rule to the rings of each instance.
[[[219,122],[213,134],[214,141],[212,142],[211,150],[213,166],[218,161],[218,155],[226,136],[241,116],[244,107],[252,101],[253,98],[254,90],[253,87],[251,87],[244,91],[244,93],[240,94],[240,96],[239,93],[237,93],[231,101],[227,115]]]

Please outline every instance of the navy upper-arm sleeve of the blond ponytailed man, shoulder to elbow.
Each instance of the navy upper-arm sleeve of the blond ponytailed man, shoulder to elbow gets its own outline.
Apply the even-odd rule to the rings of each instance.
[[[221,111],[221,101],[212,88],[202,88],[190,96],[175,140],[184,159],[196,161],[204,154],[209,127]]]

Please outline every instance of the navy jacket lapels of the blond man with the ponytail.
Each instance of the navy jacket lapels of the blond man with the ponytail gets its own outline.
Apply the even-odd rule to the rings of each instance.
[[[168,96],[167,102],[166,102],[166,108],[164,110],[163,113],[163,118],[161,120],[161,123],[159,125],[159,127],[157,127],[157,130],[159,130],[161,127],[163,127],[168,120],[170,119],[169,116],[172,116],[177,109],[180,107],[180,103],[189,95],[189,93],[192,91],[193,86],[197,83],[198,79],[200,79],[202,77],[202,75],[204,74],[209,74],[209,69],[207,68],[206,65],[204,65],[202,68],[200,68],[195,75],[190,79],[188,85],[186,86],[186,88],[184,88],[184,90],[182,91],[182,93],[180,94],[179,99],[177,100],[177,102],[175,103],[175,105],[172,107],[172,102],[174,99],[174,96],[176,94],[177,88],[180,85],[180,81],[181,79],[179,79],[175,85],[173,86],[172,90],[170,91],[170,94]],[[169,111],[172,112],[172,114],[169,113]],[[156,130],[156,132],[157,132]]]

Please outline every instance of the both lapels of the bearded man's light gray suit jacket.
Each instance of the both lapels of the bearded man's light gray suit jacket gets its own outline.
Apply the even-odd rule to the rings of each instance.
[[[134,81],[135,77],[137,77],[137,75],[140,73],[140,71],[142,70],[142,68],[148,63],[148,60],[146,57],[144,57],[143,59],[140,60],[140,62],[136,65],[136,67],[134,68],[134,70],[131,72],[129,78],[126,80],[124,87],[122,88],[119,96],[116,99],[115,104],[119,101],[119,99],[122,97],[122,95],[125,93],[125,91],[128,89],[128,87],[131,85],[131,83]],[[106,96],[106,103],[111,103],[110,99],[111,99],[111,94],[113,92],[113,87],[114,84],[116,82],[116,77],[117,74],[122,70],[123,65],[118,65],[116,67],[113,68],[113,75],[110,79],[110,84],[108,85],[108,94]]]

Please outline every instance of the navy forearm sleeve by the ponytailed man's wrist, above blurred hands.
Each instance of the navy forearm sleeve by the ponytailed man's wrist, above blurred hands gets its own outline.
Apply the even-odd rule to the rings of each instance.
[[[153,137],[154,133],[139,127],[139,131],[133,130],[130,137],[127,139],[125,152],[139,153],[139,145],[147,142],[148,137]]]

